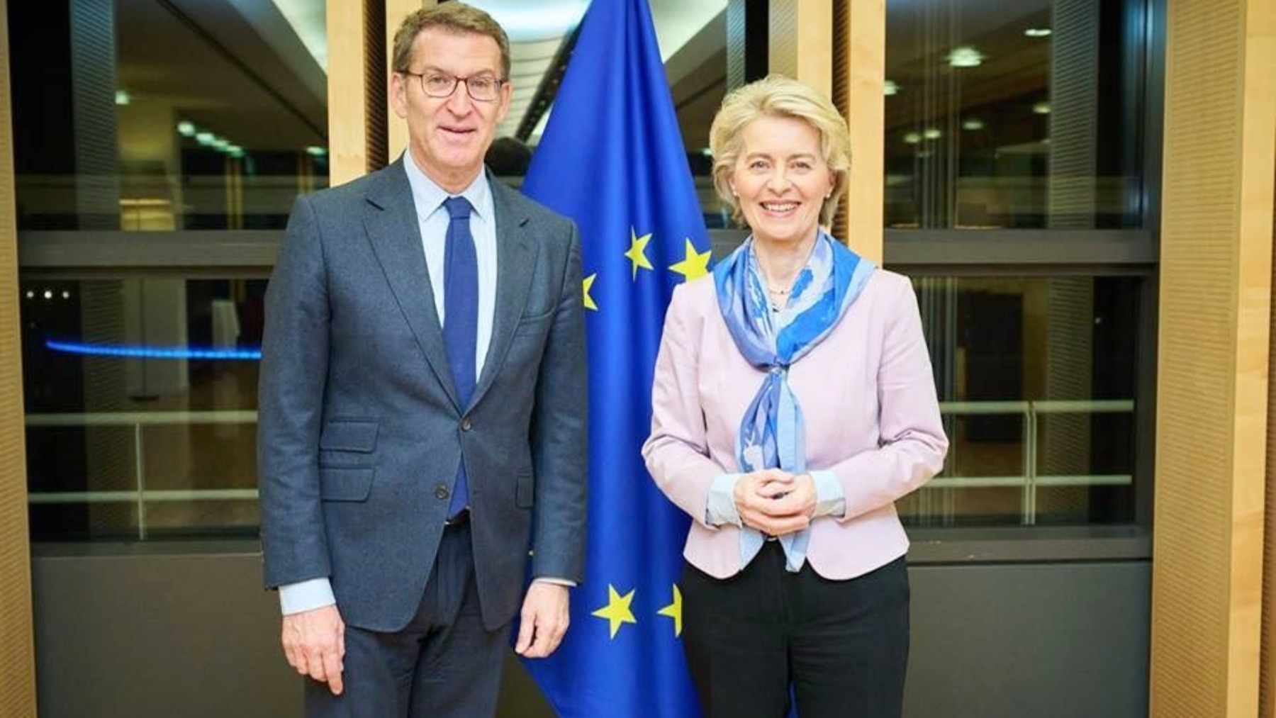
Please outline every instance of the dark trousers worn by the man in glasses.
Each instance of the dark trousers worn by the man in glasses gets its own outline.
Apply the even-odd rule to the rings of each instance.
[[[447,528],[416,616],[398,633],[346,626],[346,690],[308,678],[306,717],[491,717],[508,645],[508,625],[482,625],[468,525]]]

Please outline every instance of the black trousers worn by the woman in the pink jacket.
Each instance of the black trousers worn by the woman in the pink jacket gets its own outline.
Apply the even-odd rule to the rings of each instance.
[[[685,564],[683,647],[706,718],[896,718],[909,664],[900,557],[850,580],[785,570],[780,542],[729,579]]]

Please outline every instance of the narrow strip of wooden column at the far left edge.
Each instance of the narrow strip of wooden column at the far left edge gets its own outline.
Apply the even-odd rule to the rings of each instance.
[[[0,0],[0,715],[36,718],[9,93],[9,8]]]

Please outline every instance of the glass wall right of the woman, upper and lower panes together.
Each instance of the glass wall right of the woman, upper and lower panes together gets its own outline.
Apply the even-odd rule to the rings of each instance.
[[[952,441],[912,525],[1145,520],[1148,24],[1142,0],[887,1],[886,259]]]

